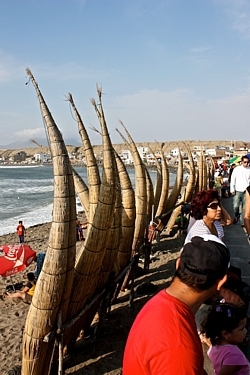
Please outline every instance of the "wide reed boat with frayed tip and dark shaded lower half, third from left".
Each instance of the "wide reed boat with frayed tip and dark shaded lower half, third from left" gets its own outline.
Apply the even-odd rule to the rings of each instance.
[[[72,318],[84,307],[93,296],[98,284],[105,248],[113,222],[116,197],[116,164],[113,147],[108,134],[101,101],[101,90],[97,89],[99,103],[92,99],[102,129],[103,174],[95,214],[89,216],[89,228],[85,242],[76,260],[75,278],[68,309],[68,318]],[[90,201],[91,190],[89,190]],[[80,319],[67,333],[66,344],[75,340],[82,326]]]

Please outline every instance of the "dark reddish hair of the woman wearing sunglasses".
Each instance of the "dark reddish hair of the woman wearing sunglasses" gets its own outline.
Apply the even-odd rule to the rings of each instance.
[[[220,203],[220,196],[217,190],[202,190],[195,194],[191,201],[191,211],[195,220],[201,220],[207,214],[207,206],[214,199]]]

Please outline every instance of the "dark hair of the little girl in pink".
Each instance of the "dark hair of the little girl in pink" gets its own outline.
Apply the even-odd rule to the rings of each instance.
[[[206,319],[202,322],[202,330],[216,345],[217,339],[222,338],[222,331],[232,332],[246,318],[246,310],[230,303],[219,303],[211,307]]]

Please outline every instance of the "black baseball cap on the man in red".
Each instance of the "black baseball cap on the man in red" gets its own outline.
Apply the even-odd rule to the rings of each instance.
[[[201,280],[217,280],[230,266],[230,251],[214,235],[195,236],[187,242],[180,255],[181,271]]]

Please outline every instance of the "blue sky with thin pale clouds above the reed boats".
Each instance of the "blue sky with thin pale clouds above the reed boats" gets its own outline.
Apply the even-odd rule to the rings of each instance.
[[[1,145],[45,139],[27,67],[64,139],[99,85],[113,143],[250,141],[249,0],[0,0]]]

